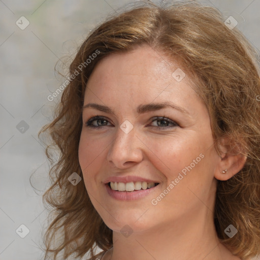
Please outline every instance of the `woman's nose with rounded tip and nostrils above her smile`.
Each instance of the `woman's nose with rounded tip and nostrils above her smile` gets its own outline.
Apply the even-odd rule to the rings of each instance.
[[[109,164],[118,169],[127,169],[140,163],[143,160],[141,145],[135,127],[128,134],[118,127],[107,155]]]

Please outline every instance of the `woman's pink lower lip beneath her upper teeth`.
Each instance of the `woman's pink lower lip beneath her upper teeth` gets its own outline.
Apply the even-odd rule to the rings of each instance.
[[[152,188],[149,189],[140,189],[140,190],[135,190],[135,191],[118,191],[118,190],[113,190],[109,187],[108,184],[106,184],[106,189],[108,194],[116,199],[116,200],[120,200],[120,201],[130,201],[130,200],[138,200],[141,198],[144,198],[145,196],[148,196],[148,194],[150,194],[151,192],[157,190],[157,187],[160,184],[158,184],[157,186],[154,186]]]

